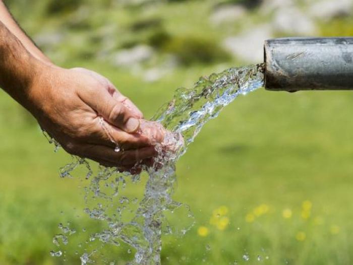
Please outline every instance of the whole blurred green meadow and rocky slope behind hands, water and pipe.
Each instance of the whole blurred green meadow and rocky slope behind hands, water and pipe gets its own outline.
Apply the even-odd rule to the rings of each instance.
[[[105,75],[146,117],[202,75],[261,62],[266,38],[353,34],[351,0],[5,3],[55,63]],[[206,124],[177,165],[175,199],[196,225],[164,238],[162,264],[353,263],[352,102],[351,92],[261,89]],[[3,91],[0,124],[0,264],[79,264],[76,243],[66,262],[49,251],[58,223],[97,226],[82,210],[86,180],[58,177],[71,157]],[[134,254],[107,252],[117,264]]]

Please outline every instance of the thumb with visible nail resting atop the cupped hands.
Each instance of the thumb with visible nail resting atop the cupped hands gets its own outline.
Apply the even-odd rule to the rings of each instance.
[[[86,91],[87,92],[87,91]],[[90,93],[81,93],[82,100],[93,108],[106,121],[126,132],[135,132],[140,127],[139,120],[133,112],[121,102],[117,102],[107,90],[102,87],[92,89]]]

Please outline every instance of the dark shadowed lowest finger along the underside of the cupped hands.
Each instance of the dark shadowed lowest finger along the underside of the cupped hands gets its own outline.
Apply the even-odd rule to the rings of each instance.
[[[94,158],[111,163],[117,167],[135,165],[136,163],[156,155],[153,147],[144,147],[124,152],[115,152],[112,148],[99,145],[81,146],[79,153],[83,157]]]

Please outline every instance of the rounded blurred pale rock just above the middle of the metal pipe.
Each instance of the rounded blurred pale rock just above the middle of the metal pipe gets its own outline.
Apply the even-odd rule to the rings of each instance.
[[[317,32],[314,21],[298,8],[278,9],[272,21],[274,30],[295,35],[315,35]]]

